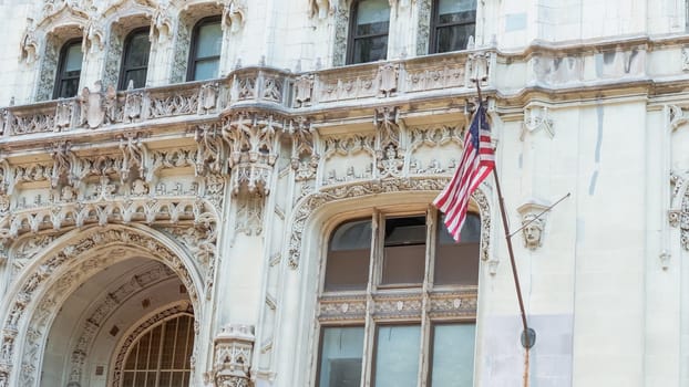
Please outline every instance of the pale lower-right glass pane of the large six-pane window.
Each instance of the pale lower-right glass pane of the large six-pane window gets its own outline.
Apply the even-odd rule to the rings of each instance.
[[[473,386],[475,324],[433,326],[432,387]]]

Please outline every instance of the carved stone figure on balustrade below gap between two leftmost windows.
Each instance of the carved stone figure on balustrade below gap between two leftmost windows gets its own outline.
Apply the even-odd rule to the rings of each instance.
[[[107,86],[105,92],[101,91],[100,82],[95,83],[93,92],[84,87],[79,96],[81,107],[79,124],[95,129],[103,124],[114,122],[116,103],[117,94],[113,85]]]

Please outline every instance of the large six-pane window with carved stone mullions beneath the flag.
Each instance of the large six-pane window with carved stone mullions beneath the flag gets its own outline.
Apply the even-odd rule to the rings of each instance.
[[[434,210],[339,224],[319,296],[316,386],[472,386],[480,238],[473,212],[461,243]]]

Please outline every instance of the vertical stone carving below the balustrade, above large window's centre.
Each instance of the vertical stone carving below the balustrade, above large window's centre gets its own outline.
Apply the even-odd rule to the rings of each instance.
[[[376,159],[381,176],[395,176],[404,166],[404,150],[400,147],[399,109],[383,107],[376,109],[373,123],[376,136]]]

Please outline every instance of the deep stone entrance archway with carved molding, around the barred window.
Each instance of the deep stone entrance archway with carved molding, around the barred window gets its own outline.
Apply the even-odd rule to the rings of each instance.
[[[12,362],[10,386],[120,387],[115,370],[124,368],[117,357],[142,339],[142,326],[155,330],[155,323],[187,316],[186,334],[198,335],[191,323],[203,313],[197,265],[178,243],[150,228],[68,233],[14,283],[2,331],[2,360]],[[198,348],[185,342],[181,351],[188,360],[175,369],[187,369],[191,378]]]

